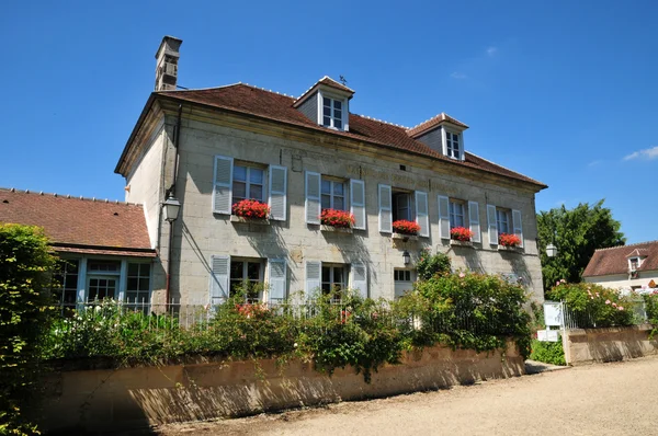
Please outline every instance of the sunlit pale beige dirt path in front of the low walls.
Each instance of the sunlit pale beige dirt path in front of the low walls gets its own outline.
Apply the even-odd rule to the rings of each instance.
[[[322,409],[158,428],[181,435],[658,435],[658,356]]]

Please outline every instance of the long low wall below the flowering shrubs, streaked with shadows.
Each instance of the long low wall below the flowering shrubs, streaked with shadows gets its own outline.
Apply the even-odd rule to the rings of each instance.
[[[112,431],[169,422],[243,416],[303,405],[468,385],[524,374],[513,343],[504,354],[432,347],[386,365],[365,383],[353,369],[332,377],[293,360],[215,362],[167,367],[72,370],[50,376],[46,431]]]

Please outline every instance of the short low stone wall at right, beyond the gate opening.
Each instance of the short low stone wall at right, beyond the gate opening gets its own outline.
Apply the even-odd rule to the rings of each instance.
[[[658,337],[649,340],[650,324],[609,329],[568,330],[563,336],[568,365],[616,362],[658,354]]]

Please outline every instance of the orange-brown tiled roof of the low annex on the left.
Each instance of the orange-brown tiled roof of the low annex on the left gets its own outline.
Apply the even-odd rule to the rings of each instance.
[[[57,251],[155,255],[140,205],[0,188],[0,222],[43,227]]]

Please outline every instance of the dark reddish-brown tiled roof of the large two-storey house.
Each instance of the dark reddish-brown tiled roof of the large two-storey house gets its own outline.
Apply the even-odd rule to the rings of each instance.
[[[295,103],[294,97],[262,90],[248,84],[238,83],[228,87],[204,90],[160,91],[154,93],[154,95],[253,115],[274,122],[320,130],[327,135],[367,141],[373,145],[394,148],[400,151],[410,151],[428,158],[450,162],[455,165],[481,170],[531,183],[540,188],[546,187],[546,185],[542,182],[537,182],[523,174],[519,174],[514,171],[508,170],[507,168],[497,165],[469,152],[465,153],[465,161],[457,161],[447,158],[442,153],[432,150],[424,144],[411,138],[408,135],[408,129],[402,126],[388,124],[355,114],[350,114],[350,131],[340,131],[319,126],[311,119],[307,118],[302,112],[293,107],[293,104]]]

